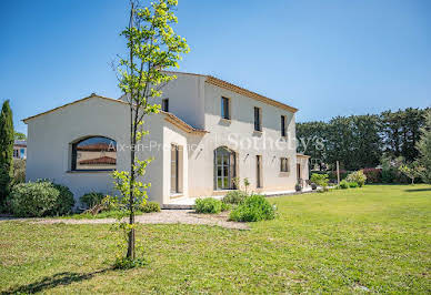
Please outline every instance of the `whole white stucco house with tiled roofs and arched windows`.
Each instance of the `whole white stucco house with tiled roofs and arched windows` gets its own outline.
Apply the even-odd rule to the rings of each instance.
[[[295,153],[297,109],[211,75],[174,74],[159,100],[163,111],[144,119],[150,133],[137,149],[140,159],[154,157],[143,179],[150,200],[223,195],[235,177],[248,177],[251,191],[282,193],[308,179],[308,157]],[[23,120],[27,180],[51,179],[77,200],[113,193],[111,171],[130,164],[122,99],[91,94]]]

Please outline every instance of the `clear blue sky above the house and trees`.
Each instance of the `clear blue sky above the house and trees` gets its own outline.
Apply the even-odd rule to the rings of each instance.
[[[118,98],[110,62],[128,1],[0,1],[0,101],[22,119],[92,92]],[[179,0],[180,71],[299,108],[298,121],[431,105],[429,0]]]

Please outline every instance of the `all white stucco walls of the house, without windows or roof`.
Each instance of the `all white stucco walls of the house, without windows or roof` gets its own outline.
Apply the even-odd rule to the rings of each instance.
[[[140,159],[153,156],[143,182],[151,182],[150,200],[161,204],[173,197],[223,194],[214,191],[214,150],[228,146],[237,153],[237,173],[248,177],[254,192],[294,190],[297,183],[294,113],[204,82],[204,77],[178,74],[163,89],[170,112],[193,128],[209,133],[188,133],[164,120],[167,114],[146,119]],[[231,101],[231,120],[221,119],[221,96]],[[254,131],[254,110],[261,108],[262,132]],[[281,138],[280,116],[287,118],[287,138]],[[109,172],[70,172],[71,143],[87,136],[106,136],[118,143],[117,169],[128,170],[129,106],[91,96],[48,114],[28,120],[27,180],[51,179],[71,189],[76,200],[88,192],[112,192]],[[181,193],[171,193],[171,144],[182,150]],[[272,144],[272,145],[271,145]],[[257,189],[257,155],[262,156],[262,189]],[[289,172],[280,172],[280,159],[289,159]],[[302,165],[308,179],[308,164]]]

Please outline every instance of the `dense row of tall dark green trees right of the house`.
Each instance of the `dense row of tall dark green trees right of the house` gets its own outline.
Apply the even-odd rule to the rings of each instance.
[[[329,166],[340,161],[347,170],[374,167],[383,154],[411,163],[419,155],[415,145],[427,111],[409,108],[379,115],[337,116],[328,123],[298,123],[298,152]]]

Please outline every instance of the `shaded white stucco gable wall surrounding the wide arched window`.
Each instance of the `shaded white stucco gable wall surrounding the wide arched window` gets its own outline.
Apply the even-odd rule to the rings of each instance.
[[[151,115],[146,120],[150,135],[142,142],[162,141],[163,115]],[[27,181],[50,179],[70,187],[76,200],[88,192],[113,193],[110,172],[70,172],[71,143],[86,136],[107,136],[117,141],[117,169],[127,170],[130,150],[120,144],[129,142],[128,105],[92,96],[51,113],[28,121]],[[163,153],[142,149],[140,159],[154,156],[144,176],[151,182],[150,200],[162,202]]]

